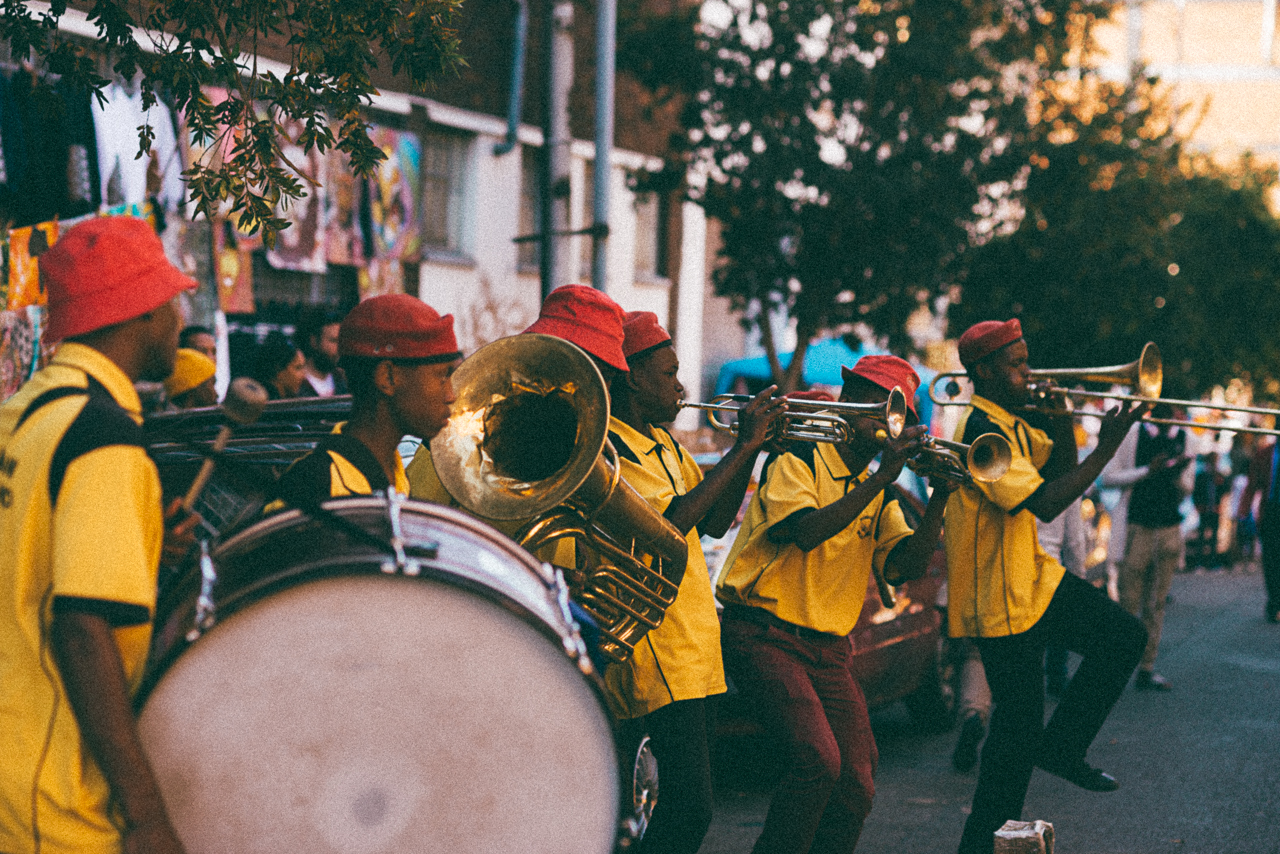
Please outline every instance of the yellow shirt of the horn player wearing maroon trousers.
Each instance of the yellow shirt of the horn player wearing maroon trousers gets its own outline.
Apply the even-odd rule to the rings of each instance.
[[[769,540],[768,530],[796,511],[835,503],[869,474],[851,472],[829,443],[799,444],[774,458],[730,549],[716,592],[721,602],[763,608],[815,631],[852,631],[872,566],[883,570],[888,553],[911,534],[897,502],[886,502],[881,493],[847,528],[809,552]]]

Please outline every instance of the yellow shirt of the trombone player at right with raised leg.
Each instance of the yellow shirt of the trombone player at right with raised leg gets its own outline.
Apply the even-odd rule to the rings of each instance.
[[[947,621],[954,638],[1000,638],[1027,631],[1048,608],[1062,565],[1044,552],[1036,516],[1023,502],[1039,489],[1053,440],[1016,415],[974,396],[956,429],[973,442],[1000,433],[1012,447],[1009,472],[996,483],[961,487],[947,499]]]

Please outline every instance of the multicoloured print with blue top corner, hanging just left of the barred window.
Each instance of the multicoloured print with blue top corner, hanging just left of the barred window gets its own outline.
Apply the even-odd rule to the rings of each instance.
[[[369,187],[374,259],[381,261],[370,264],[371,289],[393,293],[404,286],[403,270],[392,261],[416,261],[422,248],[417,223],[422,143],[407,131],[381,127],[371,127],[369,138],[387,155]]]

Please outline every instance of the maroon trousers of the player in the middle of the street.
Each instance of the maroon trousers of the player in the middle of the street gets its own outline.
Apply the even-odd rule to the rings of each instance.
[[[849,638],[726,615],[724,665],[785,750],[755,854],[849,854],[876,794],[879,754]]]

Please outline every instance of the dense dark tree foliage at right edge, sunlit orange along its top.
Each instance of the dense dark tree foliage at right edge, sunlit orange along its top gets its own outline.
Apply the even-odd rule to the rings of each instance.
[[[1188,156],[1151,78],[1048,87],[1039,106],[1025,216],[970,252],[952,328],[1018,316],[1042,367],[1123,364],[1155,341],[1176,396],[1280,378],[1275,172]]]

